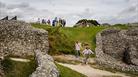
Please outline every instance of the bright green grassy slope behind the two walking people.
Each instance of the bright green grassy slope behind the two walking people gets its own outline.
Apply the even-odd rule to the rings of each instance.
[[[85,27],[85,28],[63,28],[65,33],[72,41],[80,41],[81,43],[88,43],[94,50],[96,47],[96,34],[106,27]]]

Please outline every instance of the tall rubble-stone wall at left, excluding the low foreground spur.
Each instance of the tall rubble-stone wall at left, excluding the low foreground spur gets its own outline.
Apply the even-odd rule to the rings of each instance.
[[[48,51],[48,32],[34,29],[22,21],[0,21],[0,56],[12,54],[16,56],[34,55],[35,49]]]

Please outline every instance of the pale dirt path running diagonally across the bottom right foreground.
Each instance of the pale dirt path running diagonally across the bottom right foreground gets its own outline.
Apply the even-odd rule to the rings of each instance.
[[[112,73],[109,71],[94,69],[89,65],[81,65],[81,64],[73,65],[73,64],[63,64],[63,63],[59,64],[71,68],[72,70],[82,73],[88,77],[129,77],[122,73]]]

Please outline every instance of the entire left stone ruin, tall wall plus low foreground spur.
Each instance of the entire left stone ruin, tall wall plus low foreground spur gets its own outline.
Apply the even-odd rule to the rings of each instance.
[[[38,67],[30,77],[58,77],[54,61],[47,55],[48,49],[47,31],[23,21],[0,20],[0,77],[4,75],[1,61],[7,55],[35,56]]]

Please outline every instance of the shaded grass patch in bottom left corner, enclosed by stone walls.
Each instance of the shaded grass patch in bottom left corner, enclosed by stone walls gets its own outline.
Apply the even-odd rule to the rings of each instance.
[[[9,57],[2,61],[5,77],[29,77],[36,69],[35,64],[34,60],[31,60],[31,62],[17,62],[10,60]]]

